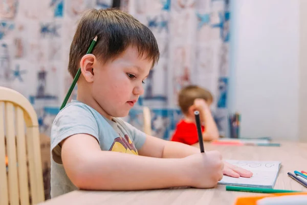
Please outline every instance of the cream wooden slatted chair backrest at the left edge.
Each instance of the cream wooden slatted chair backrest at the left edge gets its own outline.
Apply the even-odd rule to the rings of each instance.
[[[4,87],[0,87],[0,179],[0,204],[45,200],[37,115],[25,96]]]

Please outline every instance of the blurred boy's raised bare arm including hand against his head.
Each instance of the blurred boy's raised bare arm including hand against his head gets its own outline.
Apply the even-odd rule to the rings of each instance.
[[[194,106],[200,111],[201,121],[205,122],[205,131],[203,132],[203,140],[209,141],[218,139],[220,136],[216,127],[214,118],[212,117],[210,108],[204,99],[195,99]]]

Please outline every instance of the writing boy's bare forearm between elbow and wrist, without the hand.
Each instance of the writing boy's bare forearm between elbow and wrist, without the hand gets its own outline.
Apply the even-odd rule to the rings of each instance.
[[[72,176],[80,189],[144,190],[190,186],[184,159],[101,151],[79,163]]]

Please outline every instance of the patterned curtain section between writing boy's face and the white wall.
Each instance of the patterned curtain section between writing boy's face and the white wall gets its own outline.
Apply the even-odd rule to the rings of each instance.
[[[128,0],[122,9],[155,34],[161,57],[146,79],[145,94],[127,120],[142,129],[142,106],[151,110],[152,135],[169,139],[182,114],[180,89],[199,85],[212,92],[212,112],[227,134],[229,1]]]

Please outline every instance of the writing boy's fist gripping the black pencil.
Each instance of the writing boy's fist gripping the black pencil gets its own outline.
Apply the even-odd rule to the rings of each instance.
[[[223,178],[224,163],[220,152],[193,154],[184,159],[189,169],[191,187],[212,188]]]

